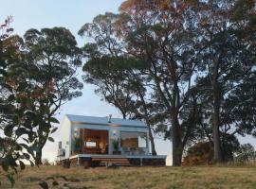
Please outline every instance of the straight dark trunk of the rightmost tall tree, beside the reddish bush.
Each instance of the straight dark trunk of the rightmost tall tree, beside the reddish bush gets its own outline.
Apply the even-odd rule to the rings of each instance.
[[[212,134],[214,145],[214,161],[222,163],[222,152],[220,142],[220,89],[216,82],[213,82],[213,110],[212,110]]]

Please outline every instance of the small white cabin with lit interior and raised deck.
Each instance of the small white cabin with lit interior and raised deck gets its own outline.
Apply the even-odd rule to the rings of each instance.
[[[150,152],[149,128],[142,121],[107,117],[64,116],[61,126],[60,160],[121,156],[162,159]]]

